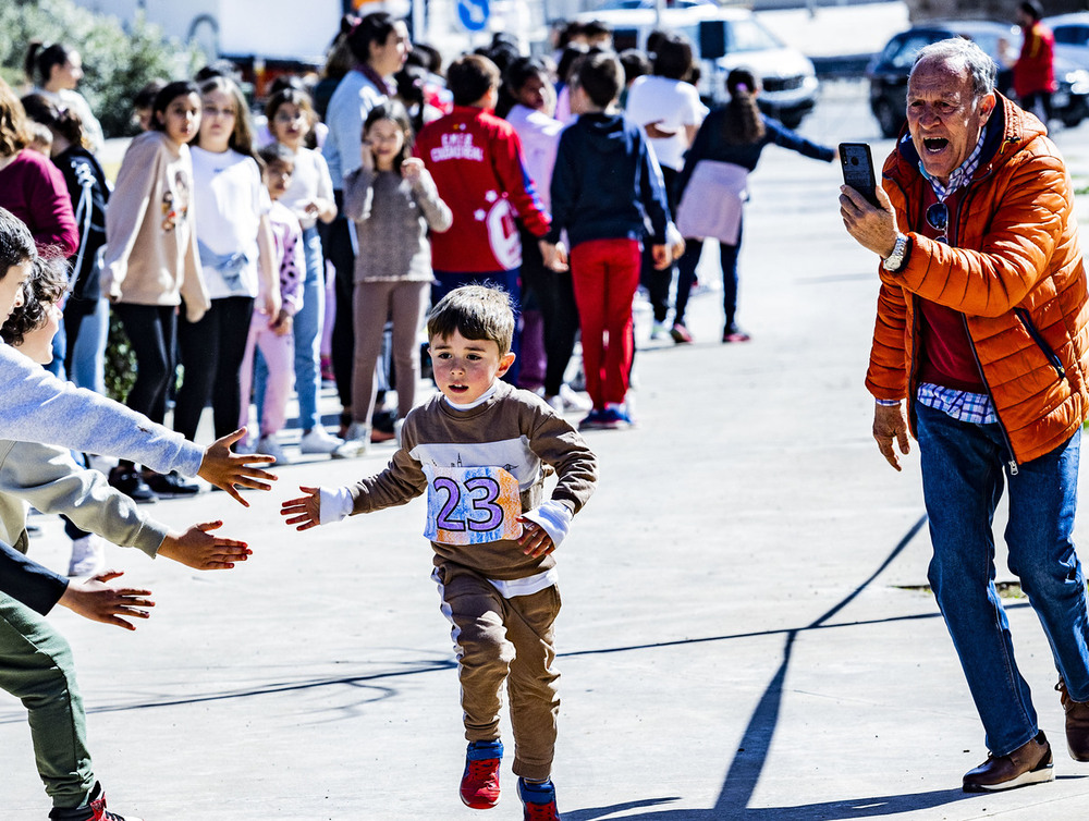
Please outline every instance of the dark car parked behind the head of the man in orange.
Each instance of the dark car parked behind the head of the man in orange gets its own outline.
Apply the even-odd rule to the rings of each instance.
[[[907,75],[915,56],[923,46],[950,37],[974,40],[999,64],[998,87],[1008,95],[1013,72],[1005,68],[1007,59],[1016,58],[1020,29],[1015,25],[983,20],[937,21],[909,28],[895,35],[866,69],[870,82],[870,110],[881,134],[895,137],[907,119]],[[1051,98],[1052,113],[1068,127],[1089,117],[1089,71],[1062,57],[1055,57],[1055,79],[1059,85]]]

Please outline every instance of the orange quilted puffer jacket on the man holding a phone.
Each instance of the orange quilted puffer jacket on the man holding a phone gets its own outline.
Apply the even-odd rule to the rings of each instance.
[[[866,387],[880,400],[915,396],[918,298],[954,308],[965,315],[1012,458],[1029,462],[1065,442],[1089,412],[1089,305],[1069,174],[1040,122],[1000,96],[979,169],[950,215],[955,247],[913,233],[926,224],[929,184],[903,138],[882,185],[910,252],[896,273],[879,266]]]

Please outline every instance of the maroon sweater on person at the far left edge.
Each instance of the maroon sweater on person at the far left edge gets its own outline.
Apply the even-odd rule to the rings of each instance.
[[[0,169],[0,208],[26,223],[39,250],[53,246],[70,257],[79,247],[64,175],[35,150],[24,148]]]

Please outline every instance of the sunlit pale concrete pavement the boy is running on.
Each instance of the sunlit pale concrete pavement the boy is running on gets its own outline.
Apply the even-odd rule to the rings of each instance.
[[[812,136],[872,137],[845,122],[825,109]],[[1081,179],[1085,136],[1057,135]],[[601,483],[559,557],[567,821],[1085,817],[1089,767],[1065,755],[1048,644],[1016,600],[1059,779],[959,792],[987,750],[919,589],[917,456],[896,474],[869,436],[874,260],[843,232],[839,182],[834,166],[769,149],[741,262],[754,341],[719,344],[717,292],[695,298],[695,344],[640,347],[639,427],[588,436]],[[135,634],[51,616],[76,652],[111,807],[154,821],[479,816],[456,796],[464,739],[424,505],[307,534],[277,515],[298,485],[351,481],[391,452],[283,467],[248,511],[222,493],[160,502],[149,512],[173,525],[223,518],[253,559],[197,574],[114,549],[111,564],[155,590],[155,616]],[[32,554],[62,566],[60,528],[45,529]],[[0,794],[16,821],[48,809],[24,716],[0,695]],[[521,818],[509,763],[503,786],[482,818]]]

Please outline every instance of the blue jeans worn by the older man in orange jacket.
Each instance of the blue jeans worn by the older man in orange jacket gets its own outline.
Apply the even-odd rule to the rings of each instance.
[[[994,587],[991,522],[1008,449],[998,425],[962,422],[915,404],[922,489],[934,556],[930,584],[987,733],[1005,756],[1039,732]],[[1080,430],[1008,476],[1010,571],[1020,579],[1070,698],[1089,700],[1089,612],[1074,551]],[[1007,474],[1008,475],[1008,474]]]

